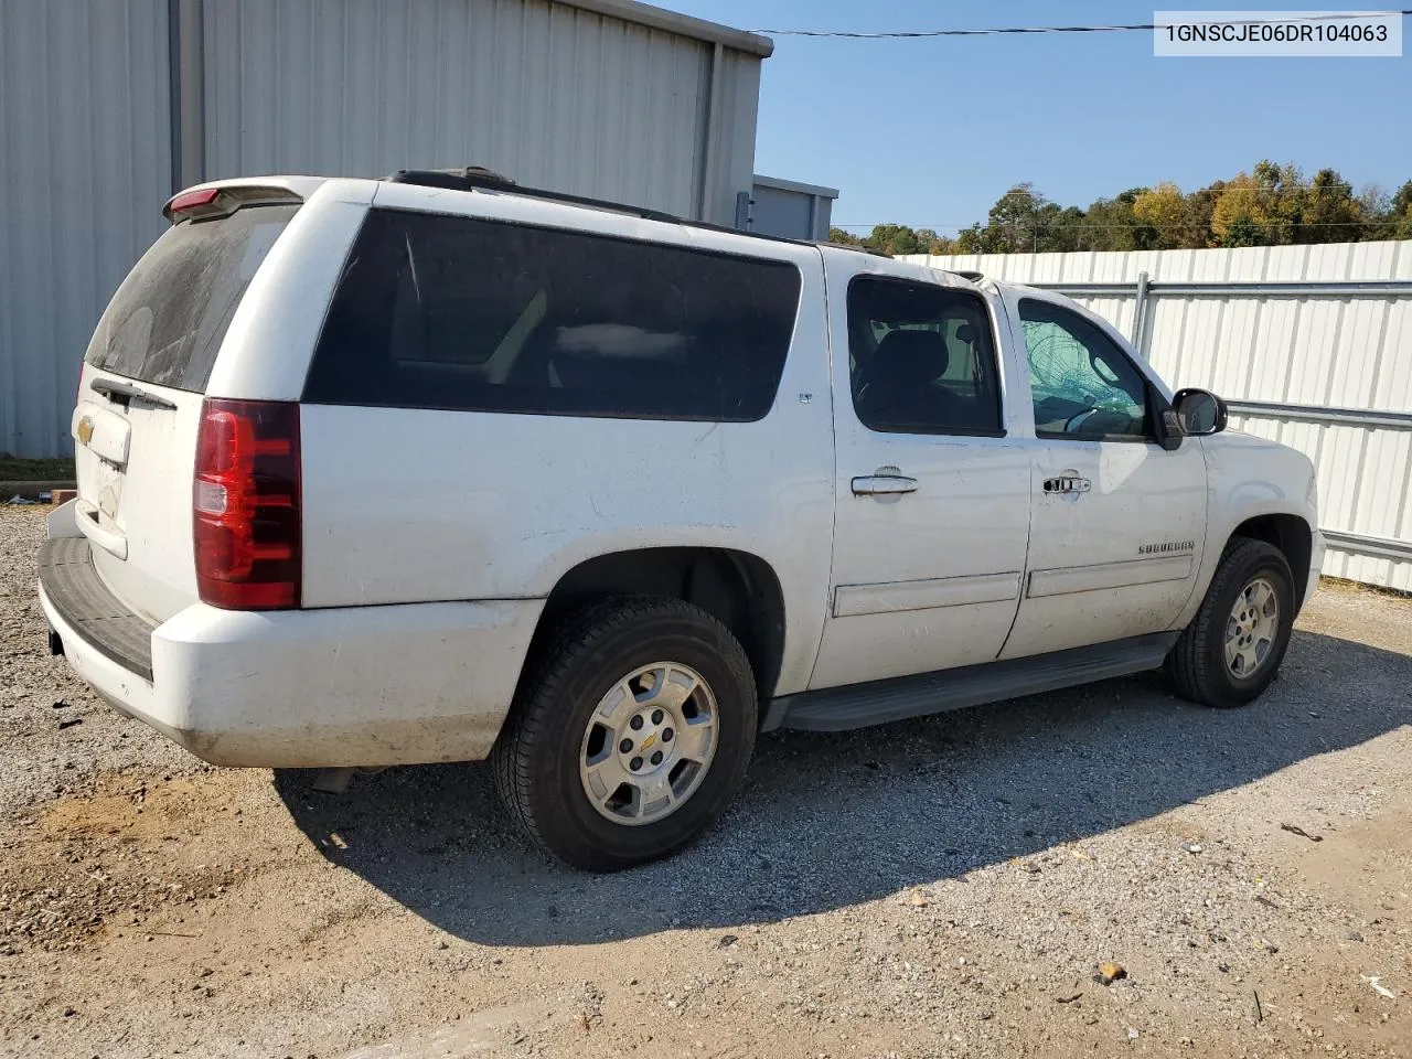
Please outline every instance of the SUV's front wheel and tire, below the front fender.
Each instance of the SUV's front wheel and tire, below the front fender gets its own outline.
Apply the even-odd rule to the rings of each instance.
[[[1295,579],[1284,554],[1237,537],[1166,657],[1168,678],[1193,702],[1244,706],[1275,679],[1293,624]]]

